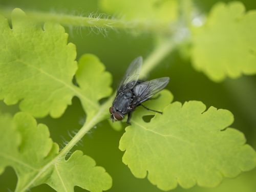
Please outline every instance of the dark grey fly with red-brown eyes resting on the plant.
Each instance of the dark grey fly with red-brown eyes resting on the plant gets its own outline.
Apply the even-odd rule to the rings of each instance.
[[[169,82],[169,77],[143,82],[139,80],[141,66],[142,57],[137,57],[131,62],[120,82],[116,97],[109,109],[113,122],[122,120],[128,114],[126,123],[130,124],[132,112],[139,105],[143,106],[146,110],[162,114],[162,112],[148,109],[142,103],[148,99],[153,99],[152,96],[164,89]]]

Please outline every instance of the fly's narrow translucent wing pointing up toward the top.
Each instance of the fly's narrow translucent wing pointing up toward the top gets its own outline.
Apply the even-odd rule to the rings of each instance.
[[[119,87],[117,89],[117,94],[122,90],[132,89],[135,86],[140,76],[141,66],[142,66],[142,57],[137,57],[131,62],[129,68],[125,72],[125,75],[122,81],[119,84]]]

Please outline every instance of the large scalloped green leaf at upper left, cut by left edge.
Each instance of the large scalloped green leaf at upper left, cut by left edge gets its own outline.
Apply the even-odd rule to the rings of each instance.
[[[0,17],[0,98],[7,104],[19,100],[20,109],[36,117],[59,117],[74,95],[72,78],[77,70],[74,44],[58,24],[44,29],[12,12],[12,29]]]

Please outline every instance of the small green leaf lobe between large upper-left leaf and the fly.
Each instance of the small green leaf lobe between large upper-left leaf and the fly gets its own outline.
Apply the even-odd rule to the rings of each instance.
[[[99,110],[98,101],[112,93],[112,76],[105,71],[103,63],[92,54],[84,54],[78,61],[76,80],[86,99],[81,99],[84,111],[88,112],[88,119]]]

